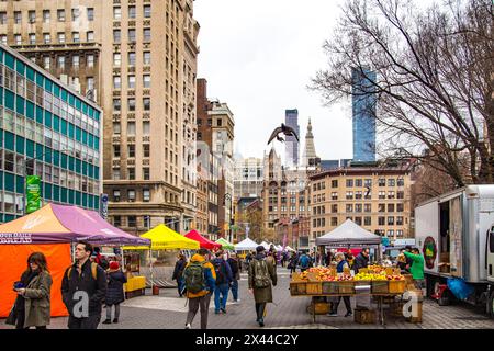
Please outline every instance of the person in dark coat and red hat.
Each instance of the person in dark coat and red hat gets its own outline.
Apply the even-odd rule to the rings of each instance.
[[[112,306],[115,306],[115,318],[113,322],[119,322],[120,317],[120,304],[124,302],[123,284],[127,282],[127,278],[120,270],[120,264],[116,261],[110,262],[110,269],[108,270],[108,288],[106,288],[106,320],[103,324],[109,325],[112,322]]]

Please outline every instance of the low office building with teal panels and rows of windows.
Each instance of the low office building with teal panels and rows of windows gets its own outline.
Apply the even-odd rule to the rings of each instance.
[[[99,210],[101,109],[0,45],[0,222],[24,213],[25,176],[46,203]]]

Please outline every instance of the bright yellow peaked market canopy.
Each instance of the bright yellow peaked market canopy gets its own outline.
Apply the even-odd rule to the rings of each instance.
[[[151,241],[151,250],[199,250],[199,241],[188,239],[177,231],[160,224],[143,234],[142,238]],[[124,250],[148,250],[148,246],[126,246]]]

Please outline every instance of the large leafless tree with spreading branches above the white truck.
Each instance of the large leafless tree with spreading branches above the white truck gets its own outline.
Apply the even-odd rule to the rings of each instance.
[[[327,103],[355,97],[357,70],[379,101],[380,155],[418,158],[457,186],[492,183],[493,22],[492,0],[350,0],[310,88]]]

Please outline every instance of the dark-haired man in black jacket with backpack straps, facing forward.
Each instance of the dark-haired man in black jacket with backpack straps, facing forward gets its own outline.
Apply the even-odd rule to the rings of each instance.
[[[69,313],[69,329],[97,329],[101,320],[102,304],[106,296],[106,273],[91,262],[92,246],[87,241],[76,245],[76,262],[61,281],[61,296]],[[85,303],[87,306],[83,306]]]

